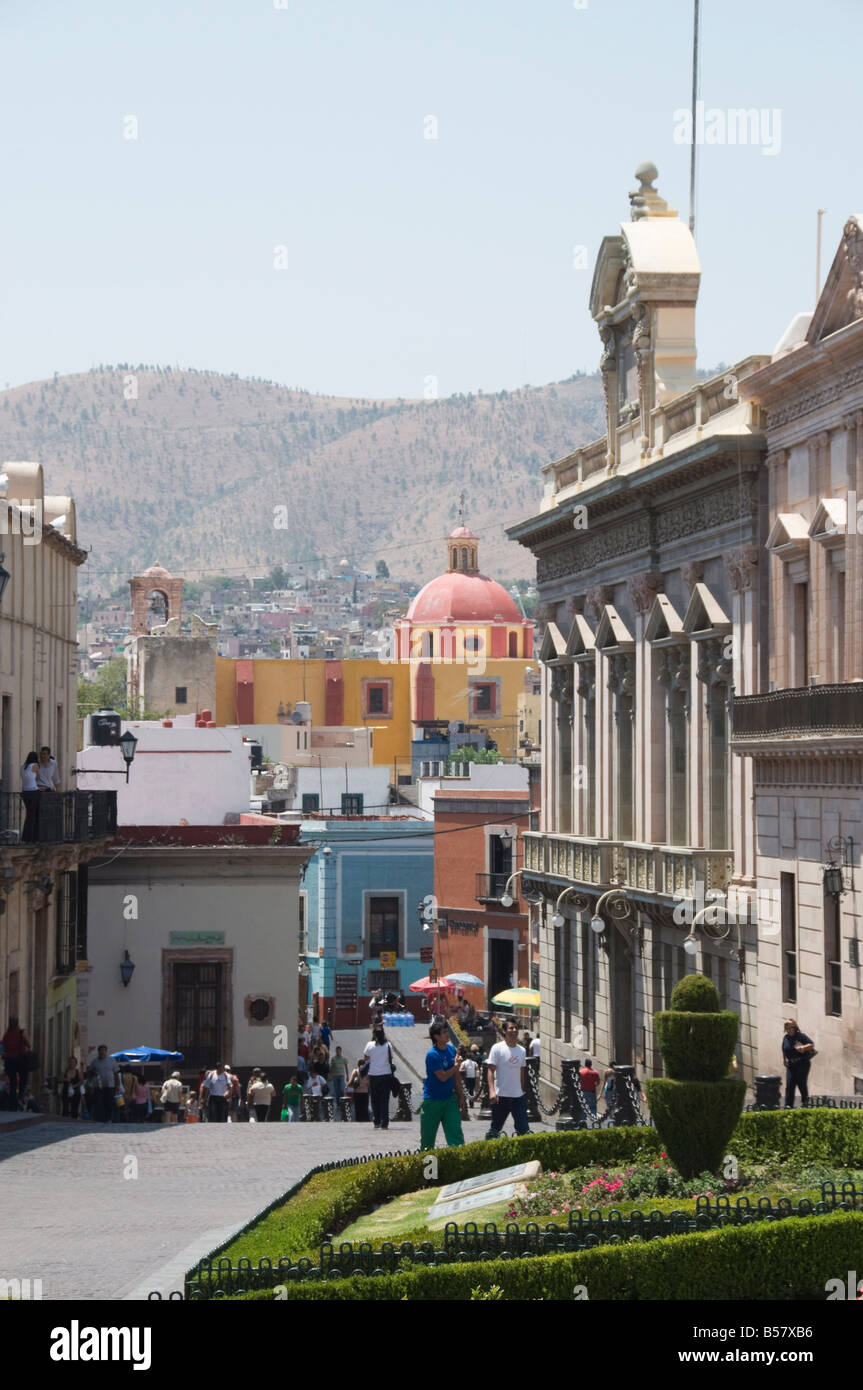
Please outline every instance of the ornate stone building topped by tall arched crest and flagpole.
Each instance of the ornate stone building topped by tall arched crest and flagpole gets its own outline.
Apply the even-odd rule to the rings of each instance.
[[[764,436],[741,386],[767,359],[699,379],[699,260],[656,177],[636,171],[593,272],[607,432],[545,468],[538,514],[509,532],[536,557],[546,620],[524,878],[543,895],[552,1080],[585,1052],[660,1074],[652,1015],[693,969],[741,1012],[746,1076],[757,1048],[752,781],[730,708],[762,678]],[[702,927],[713,897],[734,926]]]

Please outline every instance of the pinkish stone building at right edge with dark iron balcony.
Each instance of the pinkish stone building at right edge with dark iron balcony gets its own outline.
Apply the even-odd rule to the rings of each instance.
[[[782,1022],[816,1040],[810,1086],[863,1091],[863,220],[852,217],[814,314],[741,384],[764,417],[769,664],[734,706],[752,769],[759,892],[777,903],[757,962],[759,1068]],[[830,865],[838,869],[827,872]]]

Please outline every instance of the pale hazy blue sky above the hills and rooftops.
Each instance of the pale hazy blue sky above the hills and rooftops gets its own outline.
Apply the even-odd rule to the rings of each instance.
[[[281,4],[0,0],[0,388],[120,361],[371,398],[592,371],[593,260],[641,160],[688,215],[691,0]],[[699,147],[714,366],[812,307],[816,210],[825,272],[863,208],[863,0],[702,13],[705,107],[763,110],[777,150]]]

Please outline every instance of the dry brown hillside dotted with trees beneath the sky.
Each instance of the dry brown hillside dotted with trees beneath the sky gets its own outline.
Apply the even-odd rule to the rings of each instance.
[[[503,527],[538,509],[543,463],[603,430],[599,377],[374,402],[117,367],[0,392],[0,459],[39,460],[50,491],[72,493],[90,592],[154,560],[197,578],[343,555],[424,582],[441,571],[461,491],[482,570],[529,577]]]

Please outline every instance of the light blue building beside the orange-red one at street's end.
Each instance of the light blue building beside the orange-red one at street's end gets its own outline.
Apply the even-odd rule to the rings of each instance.
[[[303,820],[302,844],[320,848],[300,891],[300,962],[309,1005],[334,1027],[363,1027],[377,988],[424,974],[418,906],[434,888],[434,823],[392,816]],[[384,958],[384,959],[382,959]],[[303,965],[300,963],[300,970]]]

